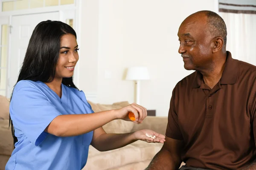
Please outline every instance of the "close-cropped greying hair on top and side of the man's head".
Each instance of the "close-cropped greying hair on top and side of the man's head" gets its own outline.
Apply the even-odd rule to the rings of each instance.
[[[198,11],[194,14],[189,15],[184,21],[192,18],[203,19],[206,16],[206,28],[212,37],[222,37],[224,40],[224,46],[227,44],[227,27],[224,20],[215,12],[212,11]],[[184,22],[183,21],[183,22]]]

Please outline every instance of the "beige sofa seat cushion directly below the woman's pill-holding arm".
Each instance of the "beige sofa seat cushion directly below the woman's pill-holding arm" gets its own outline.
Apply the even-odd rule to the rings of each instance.
[[[85,165],[83,170],[108,170],[148,159],[151,160],[162,146],[163,144],[161,143],[137,141],[125,147],[106,152],[99,152],[90,146],[87,160],[88,166]]]

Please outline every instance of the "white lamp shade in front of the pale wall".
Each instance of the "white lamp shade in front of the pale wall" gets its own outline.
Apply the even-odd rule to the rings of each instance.
[[[146,67],[131,67],[128,68],[126,80],[148,80],[148,68]]]

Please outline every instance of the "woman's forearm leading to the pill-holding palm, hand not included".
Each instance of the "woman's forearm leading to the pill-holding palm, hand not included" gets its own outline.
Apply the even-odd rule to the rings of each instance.
[[[124,147],[128,144],[137,141],[134,137],[134,133],[104,133],[100,135],[95,142],[93,147],[99,151],[108,151]]]

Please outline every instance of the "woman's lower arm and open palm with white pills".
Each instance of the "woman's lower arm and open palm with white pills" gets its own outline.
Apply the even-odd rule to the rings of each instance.
[[[146,133],[151,136],[156,136],[156,138],[149,138],[145,135]],[[137,140],[163,143],[165,142],[165,136],[148,129],[138,130],[131,133],[106,133],[102,127],[99,127],[93,131],[91,145],[103,152],[124,147]]]

